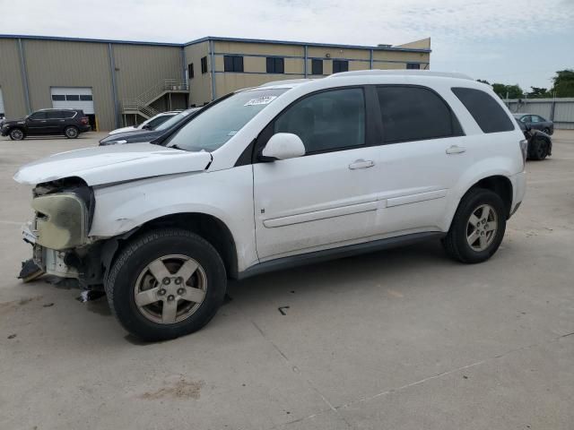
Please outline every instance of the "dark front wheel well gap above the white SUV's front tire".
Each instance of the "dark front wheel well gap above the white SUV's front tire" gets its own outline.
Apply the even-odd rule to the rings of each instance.
[[[209,242],[221,255],[225,270],[230,278],[238,276],[238,262],[235,240],[230,229],[221,219],[204,213],[175,213],[158,219],[152,219],[137,229],[135,235],[153,228],[177,227],[184,228]]]

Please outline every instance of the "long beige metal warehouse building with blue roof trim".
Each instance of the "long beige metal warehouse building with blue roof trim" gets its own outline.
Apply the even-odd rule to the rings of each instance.
[[[232,90],[362,69],[428,69],[431,39],[362,47],[207,37],[185,44],[0,35],[0,115],[82,108],[101,130]]]

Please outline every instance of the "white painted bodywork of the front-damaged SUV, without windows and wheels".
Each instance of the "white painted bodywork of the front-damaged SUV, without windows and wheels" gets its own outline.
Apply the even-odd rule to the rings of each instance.
[[[235,167],[248,144],[293,101],[317,90],[365,84],[416,84],[437,91],[457,114],[465,135]],[[450,91],[453,86],[494,95],[480,82],[432,73],[340,73],[266,84],[289,90],[211,153],[145,143],[98,147],[31,163],[14,178],[33,185],[78,176],[96,185],[94,240],[172,213],[212,215],[230,229],[239,271],[257,262],[383,237],[446,232],[462,195],[483,177],[509,178],[511,208],[522,201],[526,182],[520,130],[484,134]],[[130,182],[118,184],[122,181]]]

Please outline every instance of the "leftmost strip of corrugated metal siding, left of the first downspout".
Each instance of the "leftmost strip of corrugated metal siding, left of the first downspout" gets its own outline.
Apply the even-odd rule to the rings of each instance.
[[[7,118],[28,115],[17,39],[0,39],[0,87]]]

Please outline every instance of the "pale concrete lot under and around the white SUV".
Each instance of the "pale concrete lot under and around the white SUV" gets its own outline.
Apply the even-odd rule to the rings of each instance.
[[[151,345],[105,297],[16,280],[30,189],[13,173],[94,137],[0,141],[0,428],[574,426],[574,132],[528,162],[491,261],[429,243],[267,274],[231,285],[204,330]]]

